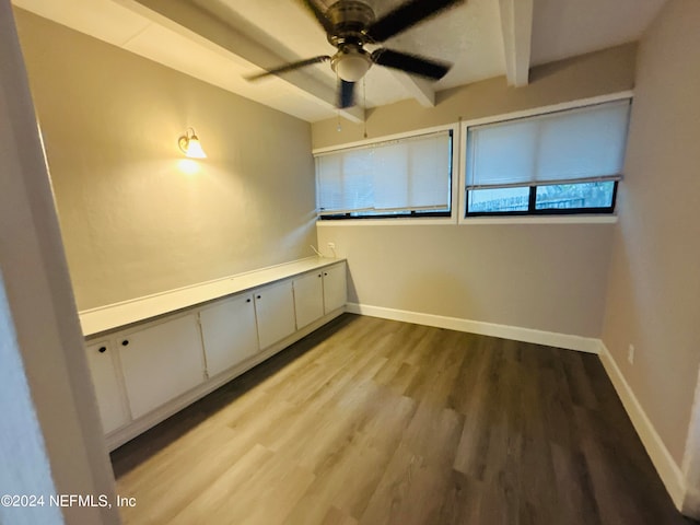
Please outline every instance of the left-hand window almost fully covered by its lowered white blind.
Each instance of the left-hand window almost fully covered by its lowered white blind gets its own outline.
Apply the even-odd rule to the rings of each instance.
[[[452,130],[316,155],[320,219],[450,217]]]

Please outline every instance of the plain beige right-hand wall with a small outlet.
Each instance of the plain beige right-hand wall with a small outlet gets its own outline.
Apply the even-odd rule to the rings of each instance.
[[[664,7],[634,92],[603,340],[680,466],[700,364],[700,2]]]

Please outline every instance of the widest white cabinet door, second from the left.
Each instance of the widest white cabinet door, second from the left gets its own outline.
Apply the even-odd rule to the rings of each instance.
[[[118,338],[131,416],[136,419],[205,381],[195,315],[177,317]]]

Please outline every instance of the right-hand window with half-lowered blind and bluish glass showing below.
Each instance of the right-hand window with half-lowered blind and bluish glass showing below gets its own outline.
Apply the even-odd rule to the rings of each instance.
[[[629,100],[467,127],[466,215],[611,213]]]

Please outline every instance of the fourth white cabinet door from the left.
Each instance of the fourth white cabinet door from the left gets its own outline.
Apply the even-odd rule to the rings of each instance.
[[[255,291],[260,350],[294,334],[294,296],[292,281],[282,281]]]

